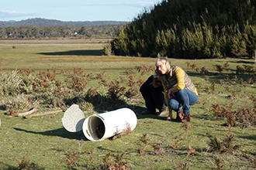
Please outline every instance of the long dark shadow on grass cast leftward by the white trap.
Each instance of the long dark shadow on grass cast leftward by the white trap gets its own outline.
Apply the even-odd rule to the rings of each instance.
[[[23,131],[26,133],[30,134],[42,134],[46,136],[59,136],[61,138],[69,138],[69,139],[77,139],[81,140],[83,139],[84,141],[88,141],[87,138],[85,138],[85,135],[83,134],[82,131],[78,131],[76,133],[71,133],[68,132],[65,128],[58,128],[52,131],[27,131],[25,129],[21,128],[14,128],[16,131]]]

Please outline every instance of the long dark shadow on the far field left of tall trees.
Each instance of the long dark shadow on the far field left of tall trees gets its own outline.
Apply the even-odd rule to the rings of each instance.
[[[91,49],[91,50],[71,50],[64,52],[53,52],[53,53],[36,53],[47,56],[102,56],[102,49]]]

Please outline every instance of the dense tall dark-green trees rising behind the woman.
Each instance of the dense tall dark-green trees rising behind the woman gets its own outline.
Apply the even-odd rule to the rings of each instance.
[[[123,25],[115,55],[175,58],[252,57],[256,0],[164,0]]]

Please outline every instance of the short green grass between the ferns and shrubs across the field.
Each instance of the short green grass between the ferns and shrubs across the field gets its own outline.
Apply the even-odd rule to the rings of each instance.
[[[249,84],[240,84],[239,80],[225,80],[225,74],[235,73],[236,66],[248,65],[251,66],[253,60],[248,59],[171,59],[173,65],[182,66],[193,82],[199,83],[199,103],[192,106],[192,121],[189,123],[187,131],[182,127],[182,124],[176,122],[165,121],[166,117],[157,117],[154,115],[142,115],[142,110],[145,109],[144,100],[138,92],[132,98],[120,97],[119,104],[115,107],[110,107],[111,100],[106,96],[108,87],[99,84],[99,79],[96,79],[97,73],[106,72],[106,77],[110,80],[121,80],[126,90],[128,76],[134,75],[138,78],[147,79],[153,71],[145,74],[138,73],[135,66],[154,67],[156,59],[126,57],[126,56],[102,56],[100,50],[102,44],[95,45],[77,45],[69,44],[45,46],[20,45],[16,49],[12,46],[0,46],[1,53],[1,69],[3,73],[10,73],[16,69],[35,70],[36,73],[47,70],[57,70],[57,80],[64,81],[74,68],[81,68],[86,74],[92,73],[88,79],[90,82],[85,88],[85,92],[76,93],[78,97],[86,94],[89,87],[99,88],[100,97],[91,97],[90,100],[81,100],[82,110],[85,117],[95,113],[102,113],[104,110],[113,110],[118,107],[130,107],[137,114],[137,127],[132,134],[121,136],[116,140],[106,139],[104,141],[88,141],[82,132],[70,133],[66,131],[61,123],[61,114],[50,114],[42,117],[32,117],[23,119],[22,117],[8,117],[6,113],[8,109],[4,107],[9,104],[8,108],[14,109],[14,103],[19,103],[20,100],[15,100],[17,96],[2,95],[0,97],[0,169],[18,169],[19,159],[29,158],[29,163],[35,163],[38,169],[69,169],[66,162],[62,162],[67,153],[75,151],[93,151],[92,160],[89,154],[78,155],[80,159],[75,161],[72,169],[94,169],[103,165],[103,158],[107,154],[112,153],[109,162],[115,162],[115,156],[123,155],[123,162],[127,162],[131,169],[217,169],[215,157],[222,159],[222,169],[254,169],[253,158],[256,156],[256,131],[255,126],[244,127],[244,124],[237,122],[236,127],[231,128],[231,133],[234,134],[233,145],[240,145],[238,150],[216,154],[209,151],[209,138],[207,133],[216,136],[223,141],[230,133],[227,126],[227,119],[219,117],[216,119],[213,113],[213,104],[229,107],[234,103],[233,110],[239,110],[241,107],[252,107],[253,101],[251,96],[255,98],[255,78],[252,74],[237,75],[238,79],[247,81],[250,77],[254,82]],[[205,80],[205,75],[202,75],[186,62],[195,63],[197,66],[205,66],[209,70],[209,80]],[[222,74],[213,69],[213,65],[224,65],[230,62],[230,68]],[[67,70],[61,73],[61,70]],[[134,73],[128,75],[127,70],[133,70]],[[219,80],[225,83],[220,84]],[[227,85],[230,81],[235,81],[235,85]],[[211,83],[216,83],[216,89],[206,90],[206,86],[210,87]],[[227,91],[227,86],[230,91]],[[233,95],[237,92],[235,95]],[[49,92],[50,93],[50,92]],[[26,97],[45,97],[47,100],[48,93],[30,93],[23,94]],[[72,95],[71,95],[72,97]],[[60,96],[61,99],[67,100],[66,96]],[[12,102],[10,102],[10,101]],[[39,111],[55,110],[58,108],[49,108],[46,100],[36,100],[34,105],[39,107]],[[19,104],[17,104],[19,106]],[[31,106],[31,105],[29,105]],[[21,107],[18,107],[21,109]],[[26,111],[22,108],[22,111]],[[254,113],[255,114],[255,113]],[[158,145],[160,151],[154,151],[150,145],[142,155],[138,154],[138,149],[141,149],[145,144],[140,139],[147,134],[150,139],[150,144]],[[81,141],[82,140],[82,141]],[[78,145],[78,143],[82,145]],[[178,148],[172,146],[177,145]],[[195,155],[188,155],[189,146],[195,148]],[[247,157],[245,157],[247,155]],[[250,159],[251,161],[250,162]]]

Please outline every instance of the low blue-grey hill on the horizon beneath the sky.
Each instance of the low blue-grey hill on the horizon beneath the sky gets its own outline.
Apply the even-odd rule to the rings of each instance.
[[[35,27],[50,27],[50,26],[106,26],[106,25],[121,25],[125,22],[117,21],[78,21],[78,22],[64,22],[55,19],[26,19],[21,21],[0,21],[0,27],[19,27],[19,26],[35,26]]]

